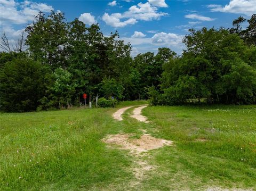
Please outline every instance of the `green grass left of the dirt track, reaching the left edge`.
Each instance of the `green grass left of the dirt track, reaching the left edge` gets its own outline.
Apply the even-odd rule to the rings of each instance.
[[[131,160],[101,142],[118,132],[115,110],[1,113],[0,190],[86,190],[129,181]]]

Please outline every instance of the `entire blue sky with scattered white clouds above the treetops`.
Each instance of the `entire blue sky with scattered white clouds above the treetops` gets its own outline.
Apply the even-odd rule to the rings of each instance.
[[[14,43],[20,32],[33,21],[38,11],[65,13],[67,21],[75,18],[87,26],[99,23],[105,35],[118,31],[133,46],[133,56],[170,47],[181,53],[182,38],[189,28],[231,27],[239,15],[256,13],[256,0],[79,0],[79,1],[14,1],[0,0],[1,34],[5,31]]]

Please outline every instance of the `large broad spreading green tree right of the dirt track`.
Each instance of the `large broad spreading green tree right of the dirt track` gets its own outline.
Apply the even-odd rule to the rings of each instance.
[[[223,28],[191,29],[183,42],[187,49],[182,56],[164,64],[161,88],[169,104],[202,98],[209,103],[255,102],[255,47]],[[245,82],[249,87],[242,86]]]

